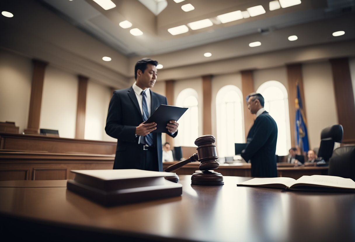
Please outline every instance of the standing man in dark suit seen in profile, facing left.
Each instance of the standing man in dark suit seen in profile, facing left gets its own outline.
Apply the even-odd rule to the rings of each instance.
[[[248,109],[256,119],[247,136],[246,148],[241,152],[245,161],[251,162],[252,177],[277,177],[276,141],[277,125],[264,109],[260,93],[251,93],[246,98]]]

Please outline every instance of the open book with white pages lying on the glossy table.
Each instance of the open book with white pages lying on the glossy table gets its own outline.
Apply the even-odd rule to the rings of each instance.
[[[295,191],[355,192],[355,182],[331,175],[304,175],[295,180],[289,177],[253,178],[237,186],[261,186]]]

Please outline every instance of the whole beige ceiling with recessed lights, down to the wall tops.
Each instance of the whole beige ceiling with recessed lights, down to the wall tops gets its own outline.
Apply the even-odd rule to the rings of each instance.
[[[355,0],[302,0],[300,5],[274,11],[269,11],[269,0],[185,0],[179,4],[166,0],[166,7],[157,16],[141,3],[155,0],[113,2],[115,8],[103,10],[92,0],[1,0],[0,11],[13,12],[14,17],[0,15],[0,47],[108,86],[124,87],[133,76],[135,62],[142,57],[157,59],[164,65],[160,78],[162,74],[171,78],[172,73],[181,75],[182,67],[355,40]],[[195,10],[182,11],[181,5],[187,3]],[[167,31],[205,18],[216,23],[217,15],[256,5],[262,5],[266,13],[190,29],[181,35]],[[130,29],[119,27],[123,20],[144,34],[133,36]],[[338,30],[345,35],[333,37]],[[298,40],[288,41],[290,35],[297,35]],[[261,41],[261,46],[249,47],[254,41]],[[204,57],[205,52],[212,56]],[[103,56],[110,56],[112,61],[104,62]],[[216,71],[211,70],[211,74]],[[195,71],[195,75],[199,73]]]

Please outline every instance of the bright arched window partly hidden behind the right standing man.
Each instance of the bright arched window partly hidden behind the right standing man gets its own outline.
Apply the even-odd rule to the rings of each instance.
[[[257,92],[264,97],[264,108],[277,123],[276,154],[288,155],[291,148],[291,132],[287,90],[278,81],[267,81],[260,85]]]

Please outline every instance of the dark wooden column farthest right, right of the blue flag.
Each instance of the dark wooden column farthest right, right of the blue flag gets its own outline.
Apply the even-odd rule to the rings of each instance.
[[[348,58],[330,60],[333,71],[335,102],[338,110],[339,124],[343,126],[342,143],[355,143],[355,104],[351,84]],[[326,97],[325,97],[326,98]]]

